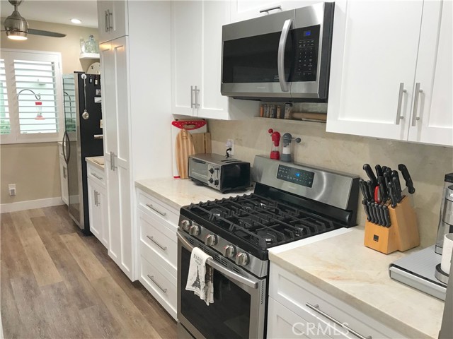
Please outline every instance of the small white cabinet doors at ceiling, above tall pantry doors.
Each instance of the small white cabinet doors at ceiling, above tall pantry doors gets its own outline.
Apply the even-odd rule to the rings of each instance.
[[[127,1],[98,0],[99,42],[128,35]]]

